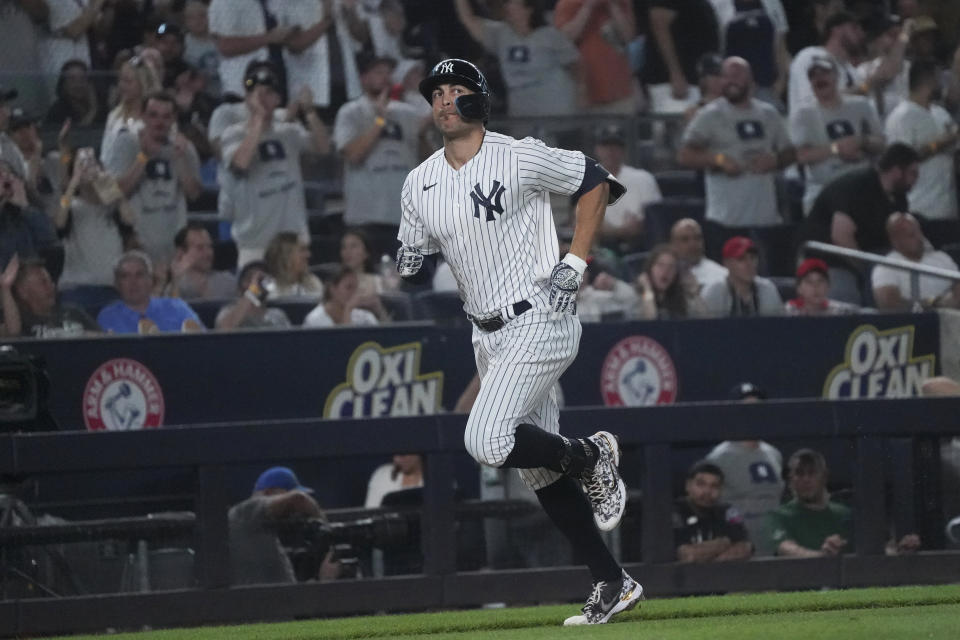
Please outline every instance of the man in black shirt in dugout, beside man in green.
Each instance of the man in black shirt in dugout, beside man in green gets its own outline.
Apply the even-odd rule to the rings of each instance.
[[[740,513],[720,503],[723,471],[701,460],[687,472],[687,495],[673,508],[673,539],[680,562],[746,560],[753,555]]]

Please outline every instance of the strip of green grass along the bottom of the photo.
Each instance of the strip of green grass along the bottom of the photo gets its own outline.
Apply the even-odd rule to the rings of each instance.
[[[615,622],[563,628],[575,605],[308,620],[116,634],[116,640],[918,640],[960,638],[960,585],[655,599]],[[86,636],[92,637],[92,636]],[[73,640],[78,640],[77,636]]]

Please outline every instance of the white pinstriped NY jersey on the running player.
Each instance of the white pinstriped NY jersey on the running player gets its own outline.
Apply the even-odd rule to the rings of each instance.
[[[443,253],[464,311],[493,315],[548,290],[559,261],[550,193],[572,195],[583,173],[580,151],[487,131],[459,170],[440,149],[410,172],[398,238]]]

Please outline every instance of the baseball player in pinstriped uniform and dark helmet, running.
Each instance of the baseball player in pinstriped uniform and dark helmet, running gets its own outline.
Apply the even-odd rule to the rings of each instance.
[[[443,135],[440,149],[403,185],[397,270],[429,282],[440,253],[474,324],[480,392],[464,443],[478,462],[519,470],[593,575],[583,615],[602,624],[636,606],[643,587],[617,564],[599,529],[616,527],[626,488],[616,438],[559,434],[554,383],[577,355],[577,290],[608,201],[623,185],[579,151],[486,129],[487,81],[449,59],[420,83]],[[559,260],[550,193],[577,198],[570,252]],[[586,497],[584,496],[586,494]]]

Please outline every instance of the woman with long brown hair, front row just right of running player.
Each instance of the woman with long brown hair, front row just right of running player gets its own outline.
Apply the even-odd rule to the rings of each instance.
[[[679,257],[670,245],[658,245],[650,251],[634,286],[640,294],[641,318],[666,320],[704,314],[696,282],[682,271]]]

